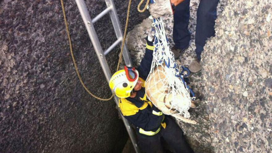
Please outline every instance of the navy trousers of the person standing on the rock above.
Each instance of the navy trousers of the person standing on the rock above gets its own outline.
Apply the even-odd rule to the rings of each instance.
[[[201,59],[201,52],[206,40],[215,36],[216,7],[219,0],[200,0],[197,11],[197,25],[195,34],[196,54]],[[183,49],[189,45],[191,39],[188,30],[190,17],[190,0],[185,0],[175,7],[173,40],[176,48]]]

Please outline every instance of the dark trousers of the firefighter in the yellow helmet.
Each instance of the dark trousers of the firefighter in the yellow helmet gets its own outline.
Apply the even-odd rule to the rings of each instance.
[[[145,153],[164,153],[162,142],[166,142],[176,153],[193,153],[186,142],[183,131],[176,124],[175,120],[165,115],[166,128],[161,127],[159,133],[153,136],[146,136],[137,133],[140,149]]]

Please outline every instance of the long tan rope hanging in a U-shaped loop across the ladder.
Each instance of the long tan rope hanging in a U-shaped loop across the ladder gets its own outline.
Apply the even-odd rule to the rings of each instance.
[[[65,10],[64,10],[64,5],[63,5],[63,0],[60,0],[61,1],[61,5],[62,5],[62,13],[63,13],[63,18],[64,18],[64,22],[65,22],[65,27],[66,27],[66,33],[67,33],[67,37],[68,37],[68,40],[69,40],[69,46],[70,46],[70,52],[71,52],[71,56],[72,56],[72,59],[73,59],[73,62],[74,62],[74,68],[76,70],[76,73],[78,75],[78,78],[79,78],[79,81],[80,83],[82,84],[82,86],[84,87],[84,89],[91,95],[93,96],[94,98],[98,99],[98,100],[103,100],[103,101],[108,101],[108,100],[111,100],[114,96],[114,94],[112,94],[112,96],[108,99],[103,99],[103,98],[100,98],[100,97],[97,97],[95,96],[94,94],[92,94],[88,88],[84,85],[82,79],[81,79],[81,76],[79,74],[79,70],[78,70],[78,67],[76,65],[76,61],[74,59],[74,53],[73,53],[73,49],[72,49],[72,43],[71,43],[71,38],[70,38],[70,32],[69,32],[69,28],[68,28],[68,23],[67,23],[67,20],[66,20],[66,14],[65,14]],[[122,53],[123,53],[123,47],[124,47],[124,43],[125,43],[125,35],[126,35],[126,30],[127,30],[127,26],[128,26],[128,20],[129,20],[129,13],[130,13],[130,5],[131,5],[131,0],[129,1],[129,6],[128,6],[128,11],[127,11],[127,18],[126,18],[126,23],[125,23],[125,32],[124,32],[124,37],[123,37],[123,41],[122,41],[122,46],[121,46],[121,52],[119,54],[119,60],[118,60],[118,65],[117,65],[117,70],[119,70],[119,66],[120,66],[120,63],[122,61]],[[121,56],[120,56],[121,55]],[[117,71],[116,70],[116,71]]]

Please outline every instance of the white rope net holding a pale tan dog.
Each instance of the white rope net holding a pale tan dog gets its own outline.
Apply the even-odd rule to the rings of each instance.
[[[146,80],[146,94],[149,100],[164,114],[180,114],[190,117],[190,91],[181,74],[169,42],[165,35],[162,18],[153,19],[155,41],[151,71]]]

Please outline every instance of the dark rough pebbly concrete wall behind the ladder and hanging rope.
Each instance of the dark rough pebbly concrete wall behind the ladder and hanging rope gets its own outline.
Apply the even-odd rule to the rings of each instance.
[[[115,0],[124,28],[127,1]],[[132,4],[129,29],[147,14]],[[86,86],[110,91],[73,0],[64,2],[74,56]],[[87,1],[91,18],[106,8]],[[116,40],[109,16],[95,23],[102,48]],[[115,49],[108,55],[116,69]],[[0,152],[121,152],[128,136],[115,103],[92,98],[70,56],[60,1],[0,1]]]

